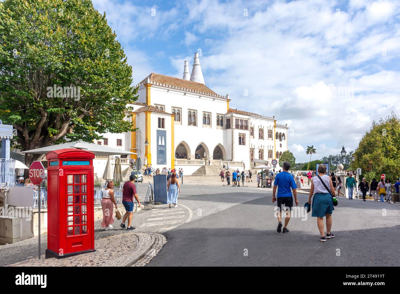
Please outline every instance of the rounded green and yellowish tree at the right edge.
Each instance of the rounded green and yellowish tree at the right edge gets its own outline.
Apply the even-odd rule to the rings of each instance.
[[[392,113],[372,122],[354,152],[356,166],[368,178],[386,178],[394,182],[400,176],[400,118]]]

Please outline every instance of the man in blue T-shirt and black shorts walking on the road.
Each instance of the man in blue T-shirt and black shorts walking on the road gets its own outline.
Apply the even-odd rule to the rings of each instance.
[[[275,181],[274,181],[274,188],[272,189],[272,203],[274,203],[277,198],[275,197],[276,190],[278,189],[278,228],[276,229],[276,232],[280,233],[282,230],[282,222],[281,218],[283,215],[282,211],[282,204],[284,205],[284,209],[286,208],[286,216],[285,216],[285,226],[283,227],[283,232],[287,233],[289,232],[287,226],[289,224],[290,220],[290,211],[293,208],[293,197],[292,197],[292,191],[293,191],[293,196],[294,196],[294,201],[296,202],[296,206],[299,204],[297,200],[297,185],[296,182],[294,181],[294,178],[292,177],[291,174],[289,174],[289,168],[290,168],[290,163],[285,161],[283,163],[283,171],[280,172],[275,176]],[[290,210],[288,210],[288,208]]]

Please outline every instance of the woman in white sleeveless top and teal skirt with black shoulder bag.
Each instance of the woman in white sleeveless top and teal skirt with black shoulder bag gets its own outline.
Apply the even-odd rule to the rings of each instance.
[[[335,188],[333,187],[332,178],[330,178],[326,173],[326,165],[320,164],[318,166],[318,175],[324,184],[330,188],[333,196],[336,196]],[[308,195],[308,203],[311,204],[311,197],[314,194],[314,200],[312,201],[312,214],[311,216],[317,217],[318,230],[320,230],[320,241],[326,242],[326,239],[334,238],[334,234],[330,231],[332,227],[332,212],[335,210],[333,207],[332,196],[329,191],[326,190],[324,184],[322,184],[320,178],[315,176],[312,178],[311,190]],[[324,216],[326,217],[326,237],[324,235]]]

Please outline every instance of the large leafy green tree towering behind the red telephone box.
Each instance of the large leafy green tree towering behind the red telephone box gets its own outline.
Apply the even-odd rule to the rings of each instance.
[[[0,2],[0,42],[0,118],[16,129],[18,147],[132,129],[124,120],[137,99],[132,68],[90,0]],[[71,86],[78,97],[66,94]],[[26,164],[36,158],[27,154]]]

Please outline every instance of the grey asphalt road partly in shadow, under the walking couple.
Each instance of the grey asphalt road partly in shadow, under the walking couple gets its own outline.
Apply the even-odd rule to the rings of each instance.
[[[298,198],[302,206],[308,196]],[[148,266],[400,265],[400,205],[340,198],[335,238],[323,243],[311,212],[276,232],[271,199],[263,188],[185,185],[178,204],[193,217],[163,233],[168,242]]]

